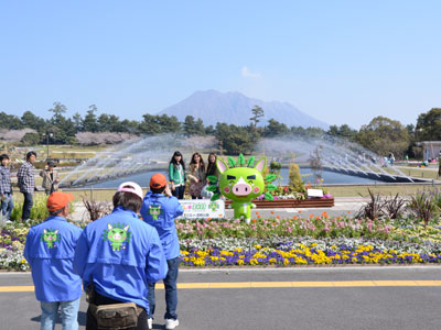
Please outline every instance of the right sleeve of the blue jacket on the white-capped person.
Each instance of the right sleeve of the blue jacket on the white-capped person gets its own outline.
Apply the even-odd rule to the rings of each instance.
[[[162,244],[155,230],[150,234],[150,250],[146,263],[146,277],[148,283],[157,283],[165,278],[169,267]]]

